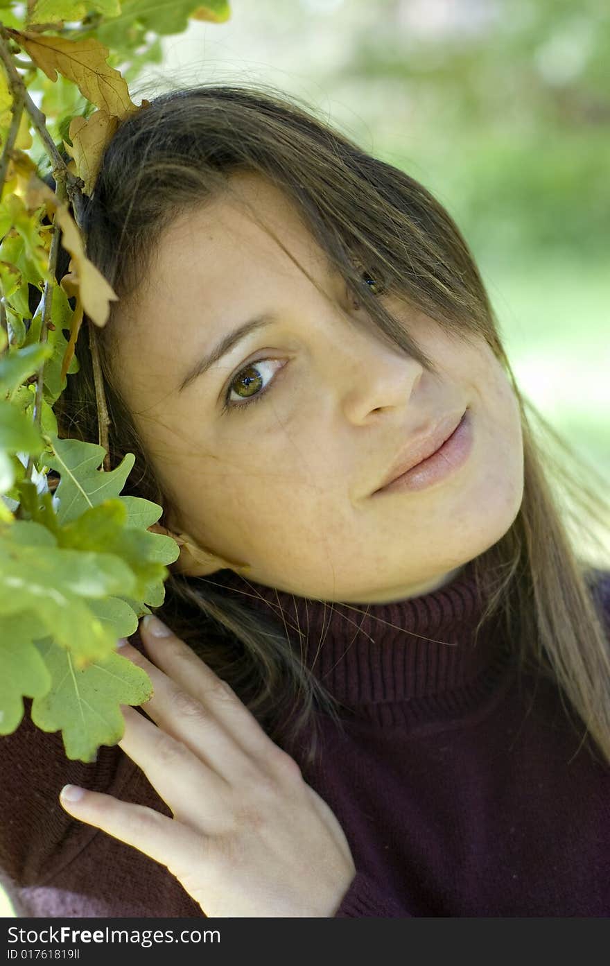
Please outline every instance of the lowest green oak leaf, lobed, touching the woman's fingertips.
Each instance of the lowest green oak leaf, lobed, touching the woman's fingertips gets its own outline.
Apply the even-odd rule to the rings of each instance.
[[[37,647],[51,675],[51,690],[32,702],[32,721],[43,731],[63,731],[67,756],[95,761],[100,745],[116,745],[125,732],[121,704],[138,705],[153,695],[148,674],[113,652],[77,669],[53,641]]]

